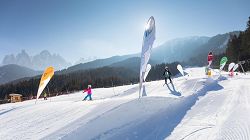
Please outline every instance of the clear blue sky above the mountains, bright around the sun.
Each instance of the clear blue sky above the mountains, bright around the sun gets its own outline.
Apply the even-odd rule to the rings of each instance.
[[[244,30],[249,0],[1,0],[0,61],[25,49],[79,58],[137,53],[150,16],[155,46],[187,36]]]

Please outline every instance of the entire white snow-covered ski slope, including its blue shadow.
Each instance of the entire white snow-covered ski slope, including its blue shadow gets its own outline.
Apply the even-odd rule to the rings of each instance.
[[[250,75],[189,76],[138,85],[93,89],[93,101],[77,92],[0,105],[0,140],[5,139],[250,139]]]

